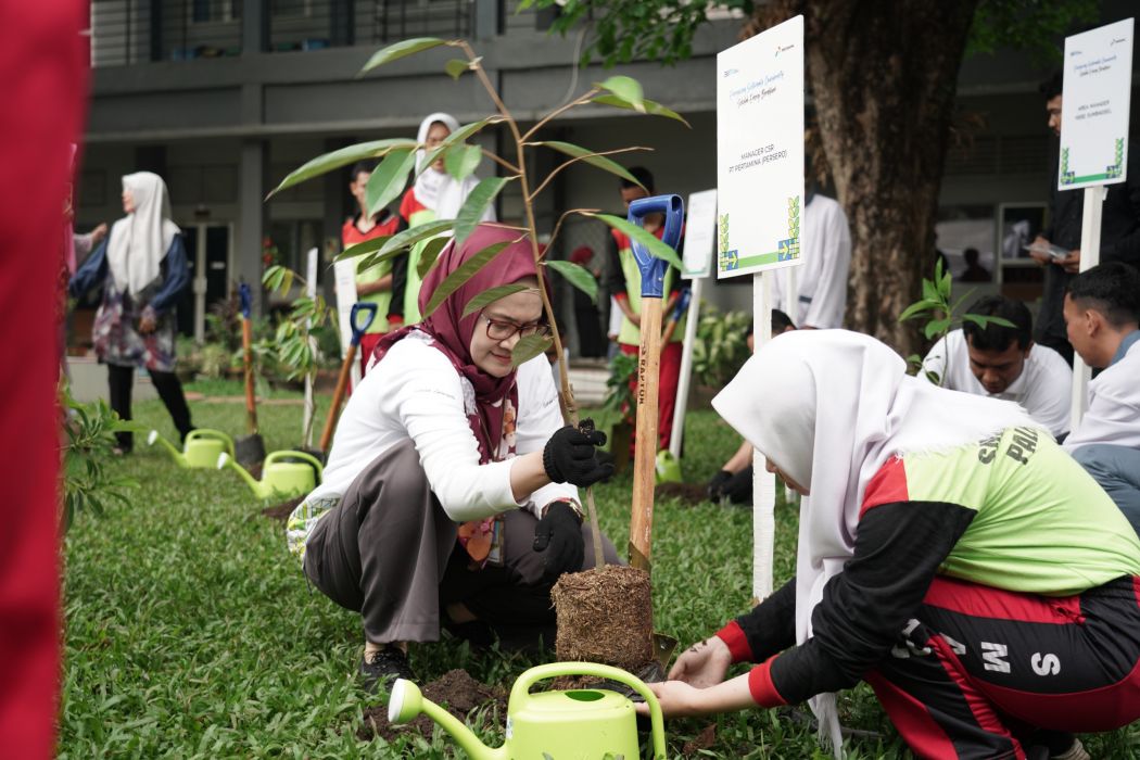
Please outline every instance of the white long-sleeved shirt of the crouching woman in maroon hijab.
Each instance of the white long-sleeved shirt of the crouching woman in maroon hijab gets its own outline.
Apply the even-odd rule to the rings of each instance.
[[[540,451],[562,427],[557,393],[545,354],[519,367],[515,453]],[[431,490],[453,521],[489,517],[518,507],[537,515],[555,499],[578,500],[578,489],[551,483],[516,502],[510,459],[479,464],[479,444],[467,424],[475,409],[471,383],[447,357],[414,330],[374,365],[352,392],[333,439],[316,500],[343,495],[352,481],[390,447],[412,439]],[[502,442],[506,451],[505,441]]]

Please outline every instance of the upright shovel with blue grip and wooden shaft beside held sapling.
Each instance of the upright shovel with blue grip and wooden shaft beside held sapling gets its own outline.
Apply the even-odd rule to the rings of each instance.
[[[674,251],[681,242],[684,203],[679,195],[658,195],[629,204],[628,220],[644,226],[645,216],[665,215],[661,240]],[[633,515],[629,523],[629,564],[650,571],[653,533],[653,484],[657,459],[658,376],[661,366],[661,311],[669,262],[632,240],[641,273],[641,346],[637,354],[637,425],[634,443]]]

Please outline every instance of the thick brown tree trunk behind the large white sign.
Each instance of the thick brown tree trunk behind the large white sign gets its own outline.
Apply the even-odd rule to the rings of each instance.
[[[852,231],[846,324],[904,356],[920,334],[898,314],[934,272],[958,70],[977,2],[777,0],[747,30],[804,15],[807,82]]]

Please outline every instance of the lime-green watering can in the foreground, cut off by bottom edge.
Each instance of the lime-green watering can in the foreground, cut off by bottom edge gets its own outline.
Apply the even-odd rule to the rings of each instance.
[[[653,757],[665,758],[665,727],[661,705],[641,680],[619,668],[593,662],[554,662],[524,672],[511,689],[506,709],[506,741],[491,749],[451,713],[420,693],[409,680],[392,686],[388,721],[406,724],[421,712],[440,725],[474,760],[637,760],[637,720],[634,704],[604,688],[542,692],[531,694],[536,683],[556,676],[596,676],[632,687],[649,704],[653,725]]]

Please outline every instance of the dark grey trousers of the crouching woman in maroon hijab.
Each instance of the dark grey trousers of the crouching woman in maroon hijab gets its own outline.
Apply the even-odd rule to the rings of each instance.
[[[496,630],[534,629],[553,641],[553,583],[543,580],[544,555],[531,549],[537,522],[524,509],[505,513],[503,565],[472,570],[458,525],[407,441],[376,457],[317,523],[304,573],[333,602],[359,612],[375,644],[439,640],[440,610],[455,603]],[[586,570],[594,566],[587,525],[583,541]],[[603,545],[606,564],[618,563],[609,539]]]

